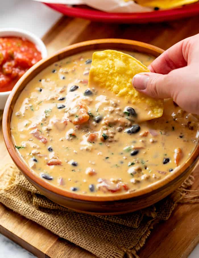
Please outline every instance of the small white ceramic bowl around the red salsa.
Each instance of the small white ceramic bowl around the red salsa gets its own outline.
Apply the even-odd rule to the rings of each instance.
[[[17,28],[3,28],[0,29],[0,38],[1,37],[24,37],[27,40],[31,41],[34,43],[37,47],[37,49],[41,52],[42,58],[47,57],[47,50],[45,45],[43,44],[42,40],[35,36],[33,33],[28,32],[26,30],[21,30]],[[6,100],[10,94],[10,91],[6,92],[0,92],[0,110],[4,109]]]

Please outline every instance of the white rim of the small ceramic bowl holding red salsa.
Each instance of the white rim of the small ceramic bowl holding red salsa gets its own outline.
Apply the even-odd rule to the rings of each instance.
[[[2,36],[2,34],[3,34],[3,36]],[[47,49],[46,49],[45,44],[34,33],[29,32],[28,30],[20,29],[20,28],[12,28],[12,27],[0,28],[0,38],[1,37],[12,37],[12,36],[26,38],[27,40],[34,43],[36,45],[36,47],[40,48],[38,50],[41,52],[42,58],[47,57]],[[10,93],[11,93],[11,90],[0,92],[0,96],[7,96]]]

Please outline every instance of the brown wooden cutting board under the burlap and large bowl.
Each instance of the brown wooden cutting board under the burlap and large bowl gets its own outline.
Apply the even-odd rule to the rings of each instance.
[[[49,55],[85,40],[126,38],[167,49],[183,38],[199,33],[199,16],[159,24],[103,24],[62,17],[43,37]],[[0,127],[0,165],[11,162]],[[199,189],[199,167],[193,189]],[[186,258],[199,242],[199,203],[178,205],[169,220],[157,224],[140,258]],[[91,253],[59,238],[38,224],[0,204],[0,232],[39,258],[92,258]],[[92,244],[92,243],[91,243]],[[102,247],[103,248],[103,247]]]

